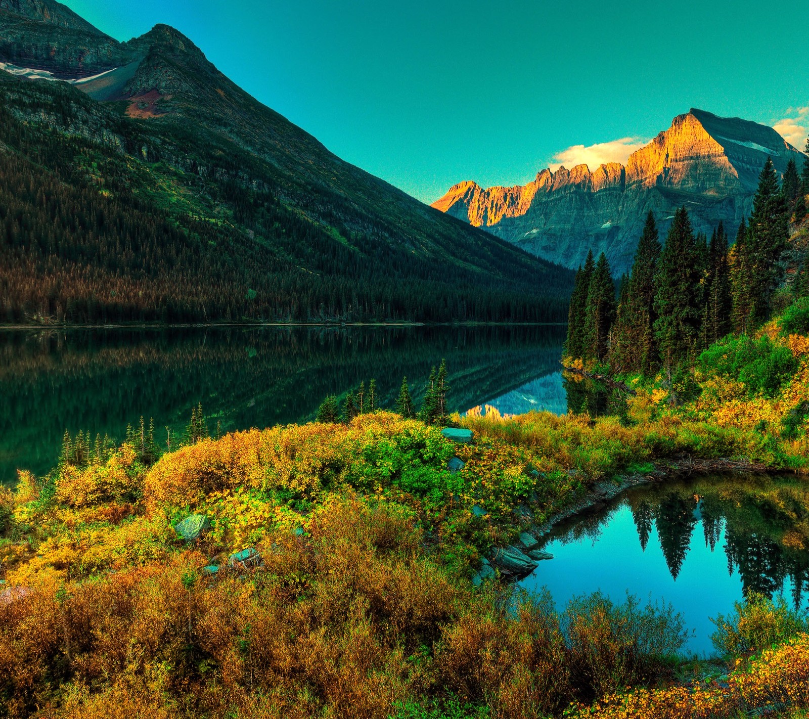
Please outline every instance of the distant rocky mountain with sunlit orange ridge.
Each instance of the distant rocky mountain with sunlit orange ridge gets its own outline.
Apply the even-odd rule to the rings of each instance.
[[[511,188],[461,182],[432,206],[566,267],[578,267],[590,249],[604,251],[621,274],[632,264],[649,210],[663,236],[681,205],[695,230],[710,234],[721,220],[733,236],[752,209],[768,155],[779,172],[790,157],[803,161],[772,128],[691,109],[625,165],[546,169]]]

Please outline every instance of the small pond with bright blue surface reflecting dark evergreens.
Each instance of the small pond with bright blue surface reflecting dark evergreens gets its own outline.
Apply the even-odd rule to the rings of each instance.
[[[693,637],[685,650],[714,653],[711,617],[754,590],[807,609],[809,485],[794,477],[715,476],[633,488],[557,526],[522,586],[546,586],[563,609],[601,590],[671,603]]]

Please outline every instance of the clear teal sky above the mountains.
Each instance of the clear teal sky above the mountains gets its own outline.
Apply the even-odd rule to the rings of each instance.
[[[66,4],[118,40],[176,27],[329,150],[428,202],[460,180],[621,159],[691,107],[777,125],[800,150],[809,129],[806,0]]]

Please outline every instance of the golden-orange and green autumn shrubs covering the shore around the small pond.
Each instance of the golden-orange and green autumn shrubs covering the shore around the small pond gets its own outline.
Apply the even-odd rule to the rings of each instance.
[[[732,272],[732,250],[726,258]],[[588,307],[609,305],[604,270],[594,265]],[[638,273],[638,286],[651,278],[654,289],[655,277]],[[120,445],[66,435],[51,472],[20,472],[15,491],[0,493],[0,716],[730,719],[809,709],[809,626],[766,596],[715,618],[718,658],[703,662],[684,657],[671,607],[602,594],[556,607],[497,572],[472,581],[492,548],[595,483],[684,458],[806,474],[803,279],[773,284],[765,315],[720,336],[706,334],[712,295],[701,315],[681,315],[693,320],[686,335],[655,319],[653,296],[634,307],[641,324],[625,324],[650,332],[646,349],[620,355],[612,326],[588,310],[578,325],[587,332],[568,340],[569,354],[590,348],[565,360],[569,396],[609,373],[616,411],[604,416],[586,401],[561,417],[447,416],[440,366],[421,408],[405,380],[396,412],[379,409],[369,382],[342,404],[328,398],[305,425],[222,434],[197,408],[165,447],[144,421]],[[576,345],[585,340],[595,344]],[[621,372],[610,367],[619,356]],[[449,441],[447,424],[472,429],[475,442]],[[175,527],[191,515],[210,528],[186,542]],[[809,546],[809,522],[783,541]],[[245,549],[260,561],[230,559]]]

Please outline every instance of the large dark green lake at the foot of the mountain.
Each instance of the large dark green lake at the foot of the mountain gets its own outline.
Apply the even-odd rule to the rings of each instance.
[[[143,416],[164,438],[197,403],[227,431],[312,419],[326,395],[372,377],[383,406],[405,374],[418,402],[443,357],[452,411],[566,412],[564,337],[559,326],[0,331],[0,483],[47,472],[66,429],[121,440]]]

